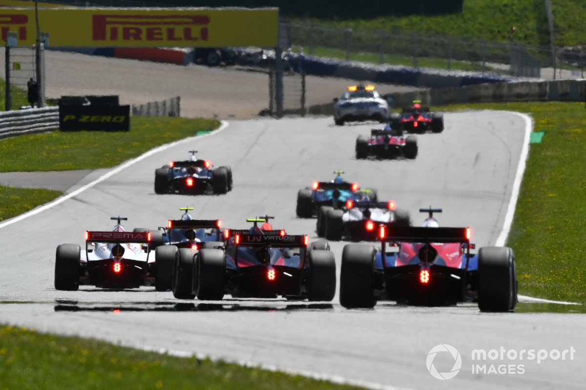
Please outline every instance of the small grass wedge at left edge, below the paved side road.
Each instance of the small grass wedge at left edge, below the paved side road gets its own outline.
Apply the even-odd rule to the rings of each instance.
[[[50,189],[0,186],[0,221],[26,213],[36,206],[50,202],[61,195],[62,192]]]

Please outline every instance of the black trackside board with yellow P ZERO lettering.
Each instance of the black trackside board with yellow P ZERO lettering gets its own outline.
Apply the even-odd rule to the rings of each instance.
[[[130,106],[60,105],[59,129],[62,132],[130,130]]]

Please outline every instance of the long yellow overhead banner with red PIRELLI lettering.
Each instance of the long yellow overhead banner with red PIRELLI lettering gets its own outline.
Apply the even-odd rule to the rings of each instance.
[[[277,46],[278,8],[39,8],[49,46]],[[0,30],[36,43],[35,9],[0,8]]]

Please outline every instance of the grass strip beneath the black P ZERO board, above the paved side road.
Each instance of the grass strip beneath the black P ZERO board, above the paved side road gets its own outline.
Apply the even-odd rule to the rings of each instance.
[[[155,146],[209,132],[217,120],[131,118],[130,132],[60,132],[0,140],[0,172],[65,171],[114,167]]]

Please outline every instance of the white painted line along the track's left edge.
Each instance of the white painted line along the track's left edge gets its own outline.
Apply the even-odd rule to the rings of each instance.
[[[115,167],[113,170],[106,172],[105,174],[101,175],[100,177],[98,177],[96,180],[94,180],[93,182],[84,185],[81,188],[76,189],[73,192],[70,192],[67,195],[63,195],[60,196],[59,198],[55,199],[52,202],[46,203],[45,205],[42,205],[38,208],[32,209],[29,212],[26,212],[24,214],[21,214],[19,216],[16,216],[15,218],[11,218],[9,220],[6,220],[5,222],[0,223],[0,229],[2,229],[2,227],[6,227],[8,225],[12,225],[13,223],[19,222],[23,219],[32,217],[33,215],[37,215],[38,213],[41,213],[45,210],[48,210],[54,206],[59,205],[59,203],[63,203],[64,201],[67,201],[67,199],[71,199],[73,198],[73,196],[77,196],[79,194],[81,194],[81,192],[86,191],[86,189],[94,187],[94,185],[103,182],[104,180],[106,180],[107,178],[111,177],[112,175],[117,174],[118,172],[130,167],[131,165],[134,165],[136,163],[138,163],[138,161],[144,160],[145,158],[152,156],[155,153],[158,153],[159,151],[163,151],[166,149],[169,149],[170,147],[182,144],[182,143],[186,143],[186,142],[190,142],[190,141],[195,141],[198,139],[202,139],[203,137],[207,137],[210,136],[212,134],[216,134],[221,132],[222,130],[226,129],[226,127],[228,127],[229,123],[226,122],[226,120],[222,120],[222,125],[219,127],[219,129],[217,130],[213,130],[212,132],[208,133],[208,134],[202,134],[200,136],[193,136],[193,137],[189,137],[189,138],[185,138],[182,140],[178,140],[175,142],[171,142],[168,144],[164,144],[158,147],[155,147],[155,149],[151,149],[143,154],[141,154],[140,156],[138,156],[137,158],[132,158],[132,160],[128,160],[125,161],[124,163],[118,165],[117,167]]]

